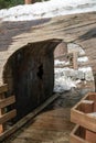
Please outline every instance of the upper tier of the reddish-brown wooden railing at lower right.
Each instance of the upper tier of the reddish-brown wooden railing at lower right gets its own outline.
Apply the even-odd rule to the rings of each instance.
[[[89,116],[93,113],[93,116]],[[71,121],[96,133],[96,92],[87,94],[71,109]]]

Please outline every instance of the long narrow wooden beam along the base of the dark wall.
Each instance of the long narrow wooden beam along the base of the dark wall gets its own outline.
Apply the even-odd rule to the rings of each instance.
[[[35,110],[33,110],[31,113],[25,116],[23,119],[21,119],[19,122],[17,122],[14,125],[12,125],[8,131],[4,131],[0,134],[0,142],[3,141],[6,138],[11,135],[13,132],[15,132],[18,129],[20,129],[23,124],[25,124],[28,121],[30,121],[32,118],[34,118],[40,111],[42,111],[47,105],[50,105],[52,101],[54,101],[56,98],[58,98],[58,94],[53,95],[50,97],[43,105],[38,107]]]

